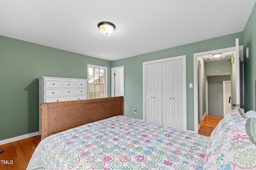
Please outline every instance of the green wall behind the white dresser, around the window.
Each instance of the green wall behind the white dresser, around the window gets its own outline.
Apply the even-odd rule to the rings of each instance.
[[[87,64],[110,77],[110,61],[0,36],[0,141],[38,131],[38,77],[87,78]]]

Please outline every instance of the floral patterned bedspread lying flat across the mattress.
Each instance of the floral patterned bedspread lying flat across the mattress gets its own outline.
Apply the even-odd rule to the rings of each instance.
[[[27,169],[201,170],[210,138],[115,116],[42,140]]]

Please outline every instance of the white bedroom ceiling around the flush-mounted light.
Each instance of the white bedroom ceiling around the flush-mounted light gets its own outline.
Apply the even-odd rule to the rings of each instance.
[[[255,1],[0,0],[0,35],[113,61],[243,31]]]

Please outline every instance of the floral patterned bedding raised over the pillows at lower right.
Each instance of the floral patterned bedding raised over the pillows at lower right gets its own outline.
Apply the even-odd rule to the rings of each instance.
[[[256,170],[256,121],[243,109],[230,111],[210,138],[205,170]]]

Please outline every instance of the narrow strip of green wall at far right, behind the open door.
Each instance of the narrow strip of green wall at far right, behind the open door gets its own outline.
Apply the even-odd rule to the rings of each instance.
[[[256,4],[244,28],[244,102],[245,110],[256,109]]]

